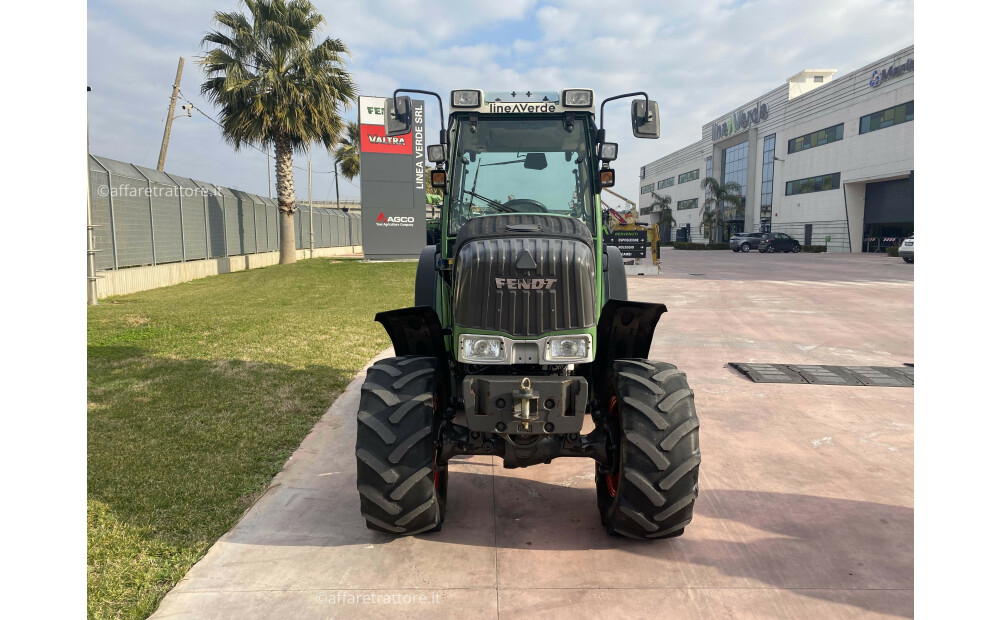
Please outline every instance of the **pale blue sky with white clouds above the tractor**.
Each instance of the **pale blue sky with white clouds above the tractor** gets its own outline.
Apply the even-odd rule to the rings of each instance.
[[[632,137],[627,103],[609,104],[608,140],[619,143],[615,190],[639,195],[639,168],[696,142],[706,122],[806,68],[843,75],[913,44],[912,0],[314,0],[320,36],[351,51],[346,68],[363,95],[398,87],[561,90],[593,88],[598,100],[645,90],[659,102],[659,140]],[[87,83],[92,153],[156,167],[171,87],[185,59],[183,97],[215,116],[200,94],[197,60],[215,11],[235,0],[91,0]],[[836,76],[835,76],[836,77]],[[176,114],[181,114],[178,101]],[[447,114],[447,110],[445,110]],[[353,106],[345,118],[356,119]],[[430,130],[437,113],[428,114]],[[273,156],[271,165],[273,166]],[[295,191],[307,197],[306,157]],[[313,149],[313,198],[333,200],[333,159]],[[173,123],[167,172],[266,195],[268,160],[235,152],[197,112]],[[271,193],[274,195],[273,168]],[[357,198],[341,178],[341,198]]]

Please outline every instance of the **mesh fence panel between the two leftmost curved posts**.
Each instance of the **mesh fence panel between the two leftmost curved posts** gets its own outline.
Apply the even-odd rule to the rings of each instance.
[[[153,263],[153,228],[149,216],[148,184],[132,164],[97,157],[111,172],[111,207],[115,218],[115,245],[119,267]]]

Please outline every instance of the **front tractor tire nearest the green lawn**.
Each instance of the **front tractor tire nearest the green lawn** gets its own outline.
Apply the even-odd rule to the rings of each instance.
[[[444,522],[448,470],[434,464],[436,385],[433,357],[391,357],[368,369],[355,456],[369,529],[409,536]]]

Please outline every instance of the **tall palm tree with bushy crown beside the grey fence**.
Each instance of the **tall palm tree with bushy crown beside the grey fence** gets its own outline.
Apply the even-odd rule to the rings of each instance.
[[[219,26],[202,39],[201,92],[221,108],[222,135],[237,151],[274,146],[281,222],[279,262],[295,262],[292,152],[312,142],[332,149],[343,131],[342,108],[356,97],[344,70],[340,39],[316,42],[326,20],[308,0],[242,0],[250,12],[215,13]]]

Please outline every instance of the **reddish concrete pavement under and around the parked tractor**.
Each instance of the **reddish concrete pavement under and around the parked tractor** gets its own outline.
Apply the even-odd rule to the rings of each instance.
[[[629,286],[667,306],[650,357],[687,372],[701,418],[682,538],[607,536],[582,459],[453,460],[441,532],[368,531],[359,374],[155,617],[912,616],[913,390],[754,384],[726,363],[913,362],[913,265],[724,251],[663,263]]]

